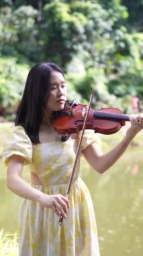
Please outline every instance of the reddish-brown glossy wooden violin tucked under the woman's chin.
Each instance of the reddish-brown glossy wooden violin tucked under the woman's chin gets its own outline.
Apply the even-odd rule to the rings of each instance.
[[[78,133],[83,128],[86,112],[87,105],[77,103],[58,111],[53,119],[54,129],[61,134]],[[118,108],[89,109],[85,129],[109,135],[119,131],[126,121],[130,121],[128,115]]]

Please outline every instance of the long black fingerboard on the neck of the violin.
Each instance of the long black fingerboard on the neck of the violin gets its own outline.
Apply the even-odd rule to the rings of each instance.
[[[105,113],[104,111],[98,111],[98,110],[94,112],[93,117],[100,117],[103,119],[116,120],[116,121],[130,121],[128,115]]]

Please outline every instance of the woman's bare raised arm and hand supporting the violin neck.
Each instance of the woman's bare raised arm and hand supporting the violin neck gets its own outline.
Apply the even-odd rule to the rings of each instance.
[[[101,150],[97,148],[95,143],[92,143],[90,146],[85,148],[85,150],[83,150],[85,159],[97,172],[105,172],[120,158],[120,156],[122,156],[122,154],[124,154],[132,139],[134,139],[136,134],[143,129],[143,115],[140,115],[139,122],[137,121],[136,117],[130,116],[130,123],[131,126],[126,132],[124,139],[122,139],[122,141],[120,141],[115,148],[106,154],[103,154]]]

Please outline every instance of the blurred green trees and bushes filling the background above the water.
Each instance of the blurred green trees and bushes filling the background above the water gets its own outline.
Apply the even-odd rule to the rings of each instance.
[[[142,100],[143,36],[128,31],[134,6],[141,1],[1,1],[0,107],[12,109],[19,101],[21,71],[28,70],[23,63],[30,61],[60,65],[70,100],[86,103],[93,88],[96,106],[127,109],[131,94]]]

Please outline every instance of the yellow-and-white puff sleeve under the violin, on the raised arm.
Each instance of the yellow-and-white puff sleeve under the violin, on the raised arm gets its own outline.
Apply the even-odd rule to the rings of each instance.
[[[82,131],[79,131],[79,139],[81,138],[81,133]],[[83,135],[81,150],[85,150],[85,148],[87,148],[87,146],[91,145],[93,142],[95,142],[96,145],[101,149],[102,143],[99,135],[95,133],[94,130],[86,129]]]

